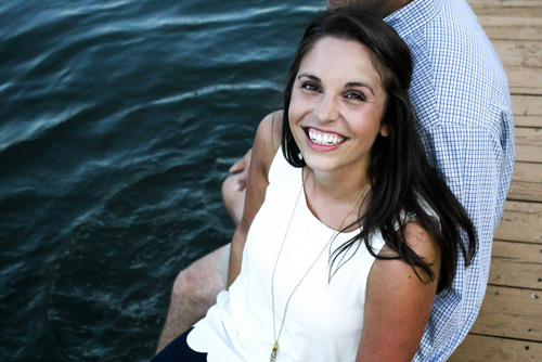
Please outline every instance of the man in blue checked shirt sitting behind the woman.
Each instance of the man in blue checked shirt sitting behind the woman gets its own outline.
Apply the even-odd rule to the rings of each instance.
[[[452,290],[438,295],[414,361],[444,361],[463,340],[481,306],[493,232],[501,219],[514,163],[512,107],[504,69],[465,0],[327,0],[385,17],[414,60],[411,98],[429,160],[475,224],[472,266],[460,257]],[[250,154],[225,180],[224,203],[238,223]],[[188,329],[224,287],[221,248],[181,272],[159,348]]]

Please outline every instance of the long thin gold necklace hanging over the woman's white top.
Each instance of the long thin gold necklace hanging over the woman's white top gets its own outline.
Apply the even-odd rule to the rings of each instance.
[[[330,240],[327,241],[327,243],[325,244],[325,246],[322,248],[322,251],[320,251],[320,254],[317,256],[317,258],[314,259],[314,261],[312,262],[312,264],[309,267],[309,269],[305,272],[304,276],[301,276],[301,279],[299,280],[299,282],[297,283],[297,285],[294,287],[294,290],[292,290],[292,293],[289,294],[289,297],[286,300],[286,306],[284,306],[284,314],[282,315],[281,327],[279,328],[279,334],[276,334],[275,318],[274,318],[274,274],[275,274],[275,271],[276,271],[276,264],[279,263],[279,259],[281,258],[282,249],[284,247],[284,242],[286,241],[286,236],[288,235],[289,225],[292,224],[292,220],[294,219],[294,214],[296,214],[297,204],[299,203],[299,197],[301,196],[301,192],[302,192],[302,190],[305,188],[305,174],[302,173],[302,170],[301,170],[301,174],[302,174],[301,188],[299,189],[299,193],[297,194],[296,204],[294,205],[294,210],[292,211],[292,216],[289,217],[288,225],[286,228],[286,232],[284,233],[284,237],[282,240],[282,245],[281,245],[281,248],[279,249],[279,255],[276,256],[276,260],[275,260],[274,267],[273,267],[273,273],[271,275],[271,306],[272,306],[272,311],[273,311],[273,337],[274,337],[274,344],[273,344],[273,349],[271,350],[271,357],[269,358],[269,362],[275,362],[276,361],[276,353],[279,352],[279,338],[281,337],[282,327],[284,326],[284,321],[286,320],[286,312],[288,310],[289,300],[294,296],[294,293],[296,293],[296,290],[299,287],[299,285],[301,285],[301,282],[309,274],[309,272],[312,270],[312,267],[314,267],[314,264],[317,263],[318,259],[320,259],[320,257],[322,256],[322,254],[324,254],[324,251],[327,248],[327,246],[330,246],[330,244],[335,238],[335,236],[337,236],[340,233],[340,229],[343,229],[343,225],[345,224],[346,219],[348,219],[348,217],[352,212],[356,204],[358,204],[358,202],[360,201],[361,196],[365,193],[365,190],[369,188],[369,182],[366,182],[365,185],[363,186],[363,189],[361,189],[361,192],[358,195],[358,197],[356,198],[356,201],[353,202],[352,206],[350,206],[350,209],[348,210],[347,215],[345,216],[345,218],[340,222],[339,227],[337,228],[338,231],[337,230],[334,231],[334,233],[332,234],[332,237],[330,237]]]

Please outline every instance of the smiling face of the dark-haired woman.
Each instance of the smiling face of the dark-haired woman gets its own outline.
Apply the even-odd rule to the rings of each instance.
[[[292,89],[289,127],[307,166],[364,178],[382,122],[386,92],[369,50],[326,37],[301,61]]]

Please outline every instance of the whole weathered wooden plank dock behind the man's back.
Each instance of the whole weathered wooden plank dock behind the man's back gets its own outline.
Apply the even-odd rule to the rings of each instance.
[[[542,0],[467,0],[508,76],[516,164],[480,314],[453,362],[542,361]]]

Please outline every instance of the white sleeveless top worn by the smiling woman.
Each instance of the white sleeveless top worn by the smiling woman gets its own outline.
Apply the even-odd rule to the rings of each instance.
[[[269,182],[266,199],[247,235],[240,275],[230,290],[218,295],[217,303],[189,334],[189,346],[208,353],[207,361],[269,361],[274,344],[271,274],[291,217],[274,279],[276,332],[292,290],[335,232],[310,211],[305,192],[294,211],[302,184],[301,169],[292,167],[281,150],[271,164]],[[375,258],[364,244],[351,247],[338,261],[351,259],[330,282],[328,262],[330,253],[358,232],[338,234],[295,292],[279,339],[278,362],[356,359],[365,287]],[[371,242],[378,254],[384,246],[380,234]]]

